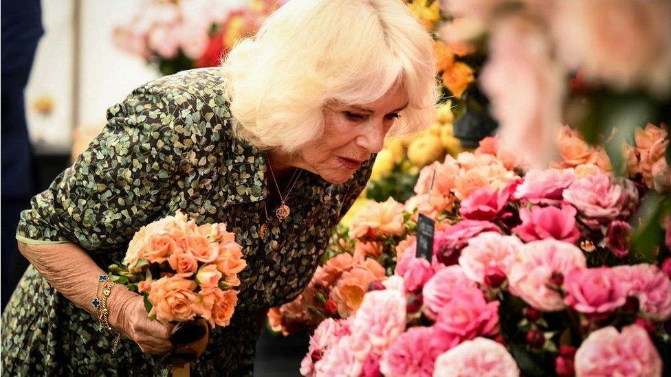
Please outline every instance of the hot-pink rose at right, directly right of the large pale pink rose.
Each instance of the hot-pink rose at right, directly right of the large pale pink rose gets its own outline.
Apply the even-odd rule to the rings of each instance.
[[[626,301],[627,284],[608,267],[570,271],[564,282],[566,305],[587,315],[608,314]]]

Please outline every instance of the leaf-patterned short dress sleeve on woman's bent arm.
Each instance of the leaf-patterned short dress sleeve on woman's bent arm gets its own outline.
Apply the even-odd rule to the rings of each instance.
[[[166,203],[184,147],[173,105],[160,87],[146,84],[109,108],[100,135],[21,212],[17,240],[107,249],[151,222]]]

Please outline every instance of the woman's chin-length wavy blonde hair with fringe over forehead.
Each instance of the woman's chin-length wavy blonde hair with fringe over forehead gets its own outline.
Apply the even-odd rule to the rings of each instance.
[[[432,38],[401,0],[291,0],[222,63],[234,132],[294,152],[323,131],[323,106],[366,104],[395,84],[410,102],[391,133],[433,121]]]

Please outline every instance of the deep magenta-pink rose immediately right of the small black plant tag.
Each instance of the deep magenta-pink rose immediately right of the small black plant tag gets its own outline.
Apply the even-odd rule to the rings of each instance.
[[[433,236],[433,252],[438,262],[450,266],[459,260],[461,249],[466,246],[468,240],[485,231],[500,233],[500,229],[489,221],[463,220],[448,227],[436,231]]]

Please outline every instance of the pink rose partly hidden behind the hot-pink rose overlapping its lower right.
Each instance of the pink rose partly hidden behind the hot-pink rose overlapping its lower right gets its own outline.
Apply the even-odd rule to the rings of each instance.
[[[426,316],[434,319],[450,301],[453,292],[476,286],[476,282],[468,279],[459,265],[441,269],[429,279],[422,290]]]

